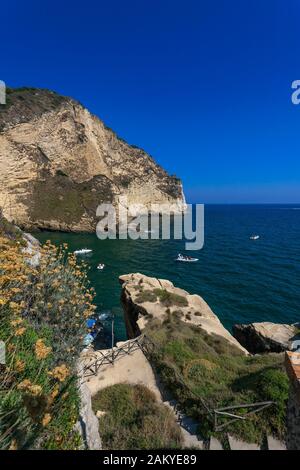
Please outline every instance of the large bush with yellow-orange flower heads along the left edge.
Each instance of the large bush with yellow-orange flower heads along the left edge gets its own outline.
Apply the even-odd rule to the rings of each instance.
[[[76,361],[94,310],[86,274],[66,247],[40,248],[33,267],[0,237],[0,449],[76,449]]]

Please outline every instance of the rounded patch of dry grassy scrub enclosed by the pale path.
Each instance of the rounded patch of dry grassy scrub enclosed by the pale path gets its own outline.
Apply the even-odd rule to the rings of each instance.
[[[181,446],[173,413],[142,385],[117,384],[93,397],[93,409],[104,411],[99,431],[105,449],[171,449]]]

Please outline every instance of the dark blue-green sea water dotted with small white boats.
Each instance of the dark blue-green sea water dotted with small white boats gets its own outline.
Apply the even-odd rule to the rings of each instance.
[[[259,234],[260,239],[249,237]],[[40,241],[91,248],[85,257],[99,310],[113,310],[116,340],[126,338],[118,277],[130,272],[166,278],[201,295],[227,328],[234,323],[300,320],[300,205],[208,205],[205,246],[178,263],[184,241],[104,240],[93,234],[39,232]],[[98,263],[105,263],[103,271]],[[107,337],[110,326],[106,325]]]

